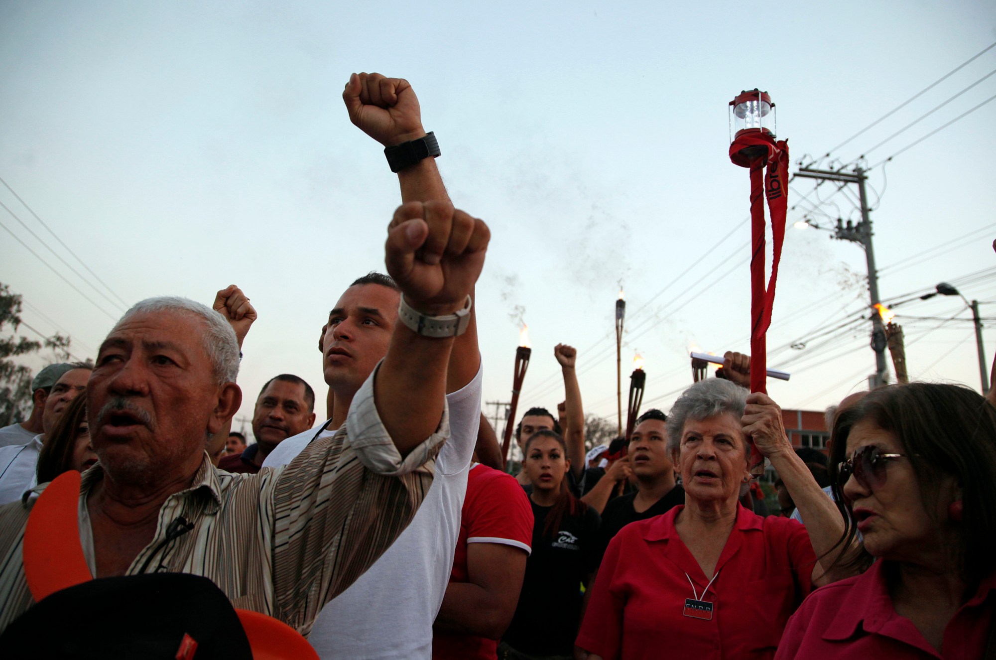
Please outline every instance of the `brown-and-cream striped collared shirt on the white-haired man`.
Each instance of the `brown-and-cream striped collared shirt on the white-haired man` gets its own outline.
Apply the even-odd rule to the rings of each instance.
[[[283,468],[232,475],[205,454],[190,488],[160,507],[155,537],[127,574],[203,575],[235,607],[275,616],[307,634],[322,605],[363,574],[411,521],[448,436],[444,406],[436,433],[402,460],[376,413],[372,375],[346,424]],[[94,466],[80,491],[80,536],[92,572],[86,500],[103,478],[100,464]],[[21,557],[32,503],[0,506],[0,631],[34,603]],[[170,537],[180,522],[192,526]]]

